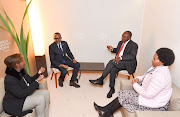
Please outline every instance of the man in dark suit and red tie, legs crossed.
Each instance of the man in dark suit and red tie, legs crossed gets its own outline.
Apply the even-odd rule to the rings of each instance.
[[[92,84],[103,85],[103,80],[110,73],[110,91],[107,94],[107,98],[111,98],[112,94],[115,93],[115,78],[120,70],[127,70],[129,74],[133,74],[136,70],[138,45],[131,40],[131,36],[132,33],[126,31],[123,33],[122,40],[118,43],[117,48],[107,46],[112,53],[116,53],[115,59],[109,61],[100,78],[89,80]]]

